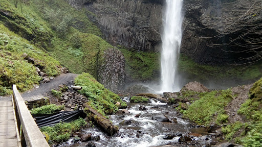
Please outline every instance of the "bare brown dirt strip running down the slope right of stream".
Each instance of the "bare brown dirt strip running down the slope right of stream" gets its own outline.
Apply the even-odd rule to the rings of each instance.
[[[249,95],[249,89],[253,86],[253,84],[237,86],[232,88],[233,94],[236,94],[236,97],[225,107],[226,113],[229,115],[228,122],[233,123],[235,121],[242,121],[240,115],[237,114],[237,110],[241,107],[241,104],[246,102]]]

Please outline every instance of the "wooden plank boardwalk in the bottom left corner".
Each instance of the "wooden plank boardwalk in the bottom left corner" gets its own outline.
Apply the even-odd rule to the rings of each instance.
[[[18,146],[12,102],[0,102],[0,146]]]

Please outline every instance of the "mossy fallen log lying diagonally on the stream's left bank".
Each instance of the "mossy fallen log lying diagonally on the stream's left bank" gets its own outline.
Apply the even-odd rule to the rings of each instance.
[[[105,118],[102,114],[97,112],[95,109],[91,108],[87,104],[83,104],[85,107],[84,111],[91,113],[91,119],[96,122],[96,124],[101,127],[108,135],[113,136],[118,132],[118,126],[114,126],[112,122]]]

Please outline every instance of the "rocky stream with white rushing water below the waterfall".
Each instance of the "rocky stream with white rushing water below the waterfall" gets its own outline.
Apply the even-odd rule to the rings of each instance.
[[[193,146],[205,146],[205,141],[200,139],[202,135],[208,135],[205,128],[194,126],[188,120],[182,119],[182,115],[172,108],[171,105],[160,103],[151,99],[151,103],[129,103],[130,97],[124,97],[123,101],[127,102],[127,110],[130,113],[122,113],[121,110],[114,115],[110,115],[110,120],[114,125],[119,126],[119,133],[113,137],[106,135],[98,127],[91,127],[82,130],[84,134],[98,136],[100,139],[94,141],[99,146],[161,146],[166,144],[179,144],[179,138],[183,134],[190,137],[195,144]],[[143,106],[146,110],[140,111],[139,107]],[[135,117],[139,114],[139,117]],[[160,122],[153,120],[152,116],[166,115],[171,122]],[[176,119],[176,120],[174,120]],[[121,123],[122,122],[122,123]],[[189,134],[191,133],[191,135]],[[173,135],[172,139],[164,139],[166,135]],[[189,134],[189,135],[188,135]],[[198,134],[198,135],[192,135]],[[199,136],[201,135],[201,136]],[[199,136],[199,137],[197,137]],[[209,137],[209,136],[206,136]],[[208,139],[205,139],[208,140]],[[85,146],[88,142],[74,142],[70,139],[59,145],[62,146]],[[179,145],[183,146],[183,145]]]

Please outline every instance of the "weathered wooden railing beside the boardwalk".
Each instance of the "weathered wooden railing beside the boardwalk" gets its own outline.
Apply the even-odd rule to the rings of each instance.
[[[30,114],[25,101],[18,92],[16,85],[13,85],[13,107],[17,127],[17,140],[21,146],[48,147],[45,137],[37,127],[32,115]]]

